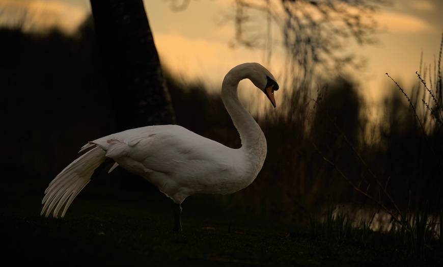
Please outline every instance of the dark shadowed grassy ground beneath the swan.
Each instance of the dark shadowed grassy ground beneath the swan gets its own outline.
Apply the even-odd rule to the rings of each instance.
[[[46,184],[5,180],[1,186],[2,258],[12,265],[78,266],[373,266],[439,264],[418,260],[389,233],[350,230],[346,213],[328,213],[328,236],[309,227],[228,209],[211,196],[183,203],[183,232],[172,232],[172,203],[156,190],[88,185],[64,219],[40,216]],[[105,184],[106,185],[106,184]],[[327,226],[333,223],[334,226]],[[337,228],[338,227],[338,228]],[[336,231],[337,229],[338,232]],[[363,243],[350,233],[363,234]]]

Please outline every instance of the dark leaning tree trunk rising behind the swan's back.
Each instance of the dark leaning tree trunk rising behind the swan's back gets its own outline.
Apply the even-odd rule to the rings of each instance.
[[[142,0],[91,0],[117,127],[175,123]]]

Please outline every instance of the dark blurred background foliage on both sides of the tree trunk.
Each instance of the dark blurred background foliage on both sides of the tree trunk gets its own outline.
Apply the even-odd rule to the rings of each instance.
[[[116,131],[91,23],[86,21],[73,36],[58,30],[39,34],[0,29],[4,126],[0,167],[5,174],[25,173],[49,182],[87,141]],[[218,94],[170,76],[178,124],[239,147]],[[219,200],[291,221],[307,221],[307,211],[321,213],[330,201],[370,203],[324,161],[320,151],[351,181],[362,181],[368,194],[386,198],[369,175],[370,168],[402,207],[414,208],[428,199],[431,213],[441,209],[441,166],[429,150],[431,145],[441,157],[441,130],[426,136],[404,99],[393,97],[385,103],[380,137],[364,139],[368,118],[358,87],[337,79],[322,88],[317,101],[310,100],[302,86],[290,95],[276,96],[282,99],[281,112],[272,111],[259,121],[268,142],[262,172],[248,188]]]

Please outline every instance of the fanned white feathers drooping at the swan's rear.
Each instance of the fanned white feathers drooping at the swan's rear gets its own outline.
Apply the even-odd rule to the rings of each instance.
[[[66,210],[74,198],[91,181],[94,170],[106,159],[106,152],[100,147],[95,147],[81,155],[57,175],[45,190],[44,204],[40,215],[48,217],[52,212],[54,218],[65,216]]]

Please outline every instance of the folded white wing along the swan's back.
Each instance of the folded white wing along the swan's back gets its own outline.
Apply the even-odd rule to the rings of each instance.
[[[116,159],[124,168],[127,166],[123,161],[141,163],[147,170],[160,172],[167,172],[177,164],[181,168],[196,163],[223,165],[232,159],[229,155],[233,150],[178,125],[130,129],[94,140],[91,145],[101,147],[107,157]]]

